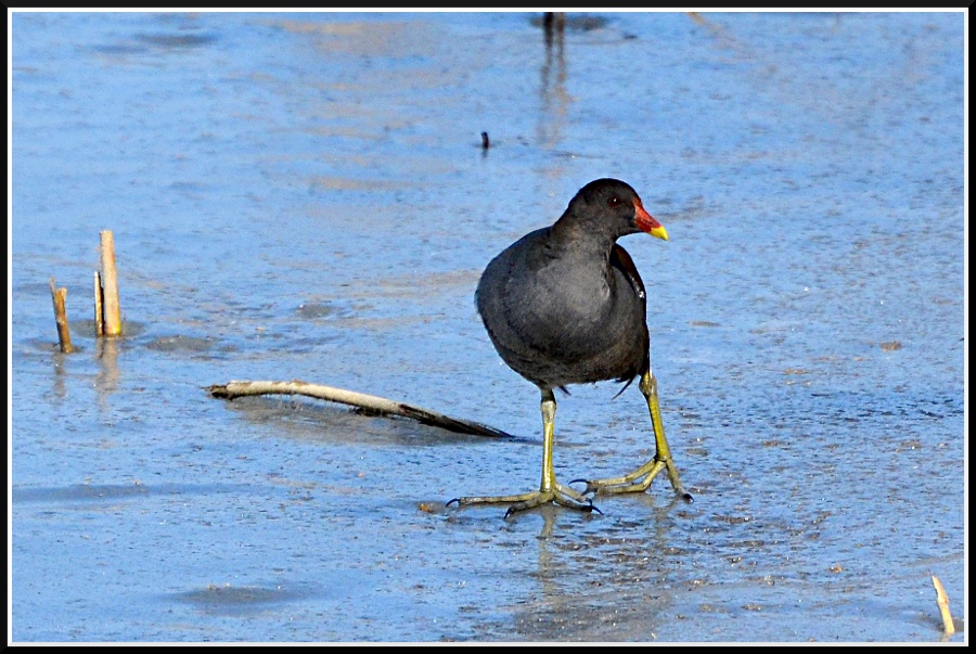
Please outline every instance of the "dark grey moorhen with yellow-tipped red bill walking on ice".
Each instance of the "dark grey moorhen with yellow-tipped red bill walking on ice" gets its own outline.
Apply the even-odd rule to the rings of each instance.
[[[549,502],[589,512],[596,508],[586,493],[644,491],[663,470],[675,491],[691,499],[665,438],[651,372],[644,284],[633,259],[616,243],[640,231],[668,240],[629,184],[598,179],[579,190],[554,225],[526,234],[488,264],[475,303],[501,358],[542,392],[542,483],[532,492],[461,497],[448,504],[511,502],[505,517]],[[654,458],[619,477],[577,479],[586,482],[582,492],[556,482],[553,389],[604,380],[629,385],[638,376],[651,410]]]

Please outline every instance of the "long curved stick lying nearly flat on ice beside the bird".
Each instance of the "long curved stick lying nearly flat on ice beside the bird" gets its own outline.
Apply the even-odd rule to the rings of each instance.
[[[228,384],[208,386],[207,390],[214,397],[231,400],[248,395],[304,395],[331,402],[349,405],[380,415],[410,418],[425,425],[433,425],[458,434],[513,438],[506,432],[481,423],[450,418],[429,409],[422,409],[375,395],[365,395],[364,393],[356,393],[355,390],[323,386],[321,384],[309,384],[299,380],[292,382],[229,382]]]

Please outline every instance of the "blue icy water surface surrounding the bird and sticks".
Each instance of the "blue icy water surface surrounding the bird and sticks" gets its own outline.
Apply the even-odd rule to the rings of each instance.
[[[936,642],[930,574],[964,616],[965,14],[11,20],[12,640]],[[695,502],[446,509],[539,483],[473,294],[599,177],[670,234],[624,244]],[[294,379],[517,438],[206,392]],[[653,454],[617,389],[557,398],[561,479]]]

